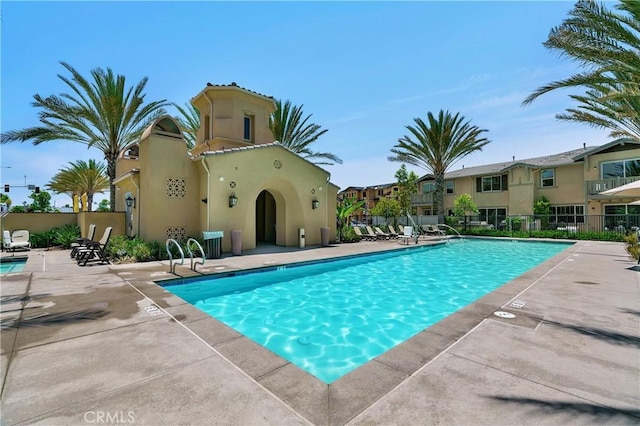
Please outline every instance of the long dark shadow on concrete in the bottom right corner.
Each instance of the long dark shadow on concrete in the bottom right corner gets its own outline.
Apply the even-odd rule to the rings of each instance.
[[[506,396],[487,396],[498,402],[507,404],[529,405],[534,410],[541,411],[542,414],[551,414],[553,412],[562,412],[571,415],[590,416],[589,422],[602,424],[604,422],[614,422],[615,424],[637,423],[640,418],[640,410],[628,408],[611,408],[598,404],[590,404],[587,402],[563,402],[563,401],[545,401],[533,398],[513,398]],[[586,419],[583,419],[586,420]]]

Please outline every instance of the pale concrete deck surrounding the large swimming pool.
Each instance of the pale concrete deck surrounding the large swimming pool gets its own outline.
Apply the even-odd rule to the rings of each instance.
[[[198,269],[392,248],[407,246]],[[640,272],[620,243],[577,242],[331,385],[156,285],[167,262],[78,267],[68,253],[32,250],[1,278],[3,425],[640,423]]]

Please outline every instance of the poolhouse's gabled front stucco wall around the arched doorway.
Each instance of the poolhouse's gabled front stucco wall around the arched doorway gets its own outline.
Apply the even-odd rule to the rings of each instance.
[[[206,161],[211,171],[207,226],[225,232],[223,250],[230,250],[230,234],[235,229],[243,231],[243,249],[256,246],[256,200],[263,190],[269,191],[276,203],[276,244],[297,245],[298,228],[305,228],[308,245],[320,244],[320,228],[324,226],[332,229],[334,238],[338,188],[327,183],[326,171],[280,146],[213,155]],[[280,168],[274,166],[277,161]],[[232,192],[238,204],[230,208]],[[320,203],[318,209],[312,209],[314,197]]]

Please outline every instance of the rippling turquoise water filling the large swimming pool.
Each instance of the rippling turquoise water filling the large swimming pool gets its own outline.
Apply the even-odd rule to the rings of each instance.
[[[331,383],[568,246],[464,240],[165,288]]]

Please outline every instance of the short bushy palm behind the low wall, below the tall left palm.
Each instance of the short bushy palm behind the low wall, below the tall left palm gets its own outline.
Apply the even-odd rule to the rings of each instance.
[[[71,198],[74,195],[87,194],[87,210],[91,211],[93,195],[103,193],[109,188],[109,178],[103,162],[96,160],[76,161],[69,163],[70,167],[61,169],[53,176],[47,185],[58,194],[67,194]]]

